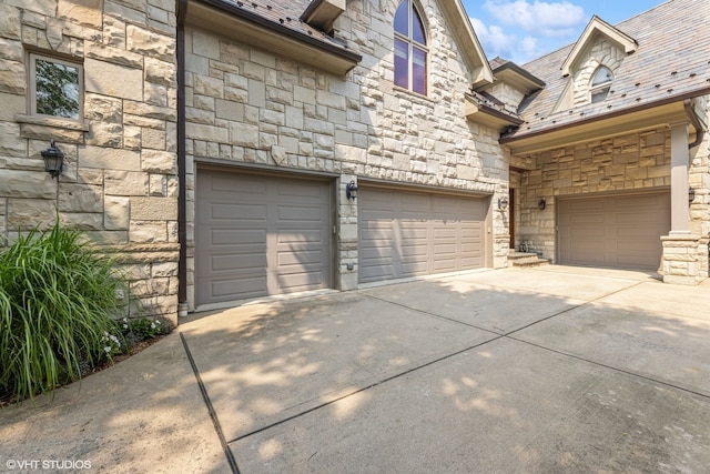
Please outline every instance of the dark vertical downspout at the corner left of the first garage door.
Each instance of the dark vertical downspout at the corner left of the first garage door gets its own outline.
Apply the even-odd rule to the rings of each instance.
[[[178,316],[187,315],[187,210],[185,183],[185,18],[187,0],[175,1],[178,20]]]

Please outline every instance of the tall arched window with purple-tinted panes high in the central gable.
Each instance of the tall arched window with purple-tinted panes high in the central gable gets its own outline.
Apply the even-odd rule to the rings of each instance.
[[[394,29],[395,84],[426,94],[426,31],[413,0],[404,0],[397,7]]]

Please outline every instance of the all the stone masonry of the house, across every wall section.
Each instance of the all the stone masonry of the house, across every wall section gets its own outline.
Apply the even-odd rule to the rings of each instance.
[[[98,252],[124,265],[143,314],[175,321],[181,147],[186,159],[187,250],[182,283],[193,310],[195,173],[201,163],[328,177],[336,190],[335,286],[341,290],[358,285],[357,202],[345,199],[351,181],[487,198],[486,263],[494,268],[507,265],[511,220],[516,244],[530,242],[544,256],[556,259],[559,198],[672,188],[668,127],[511,155],[499,143],[500,130],[466,118],[466,93],[480,79],[469,70],[475,48],[457,42],[462,39],[447,22],[450,10],[442,10],[437,0],[416,2],[428,34],[427,94],[396,87],[393,18],[398,3],[347,2],[334,29],[362,61],[344,75],[248,46],[237,33],[205,29],[199,26],[203,19],[193,24],[187,9],[186,139],[178,143],[182,111],[173,1],[4,1],[0,235],[12,242],[18,232],[49,226],[59,215],[64,224],[83,230]],[[31,53],[82,65],[81,120],[30,113]],[[595,71],[606,65],[616,74],[625,54],[604,36],[592,37],[575,60],[569,87],[556,90],[561,94],[565,89],[565,97],[556,98],[549,110],[586,107]],[[509,111],[526,99],[513,82],[489,85]],[[707,98],[702,103],[707,119]],[[50,140],[67,157],[59,179],[42,167],[40,152]],[[688,181],[696,198],[690,234],[662,241],[667,281],[696,283],[708,276],[708,147],[704,140],[691,150]],[[509,188],[516,190],[515,215],[496,205]],[[680,188],[676,185],[676,202]],[[541,199],[547,202],[542,211]]]

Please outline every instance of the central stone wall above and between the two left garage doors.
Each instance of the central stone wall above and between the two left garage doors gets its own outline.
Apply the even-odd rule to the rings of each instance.
[[[357,203],[345,200],[351,180],[495,194],[494,202],[507,194],[508,168],[497,132],[464,115],[470,78],[435,0],[422,2],[430,34],[428,94],[394,85],[397,3],[347,2],[335,30],[363,60],[345,77],[197,27],[185,31],[189,162],[220,160],[336,177],[341,289],[357,285],[357,268],[347,270],[357,262]],[[187,173],[192,285],[193,165]],[[499,213],[493,228],[507,234]],[[507,249],[507,242],[495,245]],[[194,302],[192,290],[189,294]]]

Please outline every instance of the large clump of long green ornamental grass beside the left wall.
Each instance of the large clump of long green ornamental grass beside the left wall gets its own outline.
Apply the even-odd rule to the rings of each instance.
[[[14,400],[80,379],[121,352],[125,280],[80,232],[31,231],[0,253],[0,389]]]

